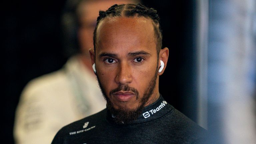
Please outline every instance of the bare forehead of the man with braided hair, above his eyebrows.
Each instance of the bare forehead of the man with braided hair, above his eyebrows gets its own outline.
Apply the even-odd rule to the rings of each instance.
[[[96,32],[96,51],[106,48],[156,50],[154,27],[144,17],[105,18]]]

